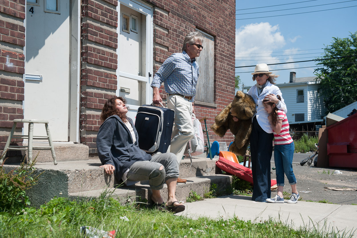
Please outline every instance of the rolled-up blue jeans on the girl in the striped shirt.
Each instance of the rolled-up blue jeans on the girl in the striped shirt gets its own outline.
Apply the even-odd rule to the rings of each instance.
[[[290,185],[296,184],[296,178],[292,171],[294,149],[294,142],[274,146],[274,162],[276,168],[276,182],[278,186],[284,186],[284,173],[286,174]]]

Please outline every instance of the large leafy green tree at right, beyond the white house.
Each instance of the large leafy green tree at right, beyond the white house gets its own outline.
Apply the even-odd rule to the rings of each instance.
[[[320,93],[328,111],[333,112],[357,101],[357,31],[351,38],[333,38],[331,45],[324,49],[325,55],[317,59],[315,73],[320,81]]]

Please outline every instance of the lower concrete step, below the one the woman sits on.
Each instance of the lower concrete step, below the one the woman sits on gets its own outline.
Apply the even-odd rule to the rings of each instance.
[[[210,186],[215,183],[217,188],[220,188],[220,191],[226,189],[231,185],[232,176],[230,175],[208,175],[201,177],[190,177],[186,178],[187,183],[178,183],[176,187],[176,198],[179,201],[186,202],[186,198],[189,196],[189,193],[195,191],[197,194],[200,194],[203,197],[204,193],[207,193],[210,189]],[[131,202],[143,202],[147,200],[150,204],[151,201],[151,190],[147,184],[136,184],[131,186],[121,186],[119,188],[101,188],[90,191],[81,191],[76,193],[69,193],[69,198],[71,199],[87,199],[87,198],[98,198],[101,193],[105,193],[107,196],[114,197],[120,200],[122,204],[127,201]],[[164,185],[164,188],[161,190],[161,196],[164,201],[167,199],[167,185]]]

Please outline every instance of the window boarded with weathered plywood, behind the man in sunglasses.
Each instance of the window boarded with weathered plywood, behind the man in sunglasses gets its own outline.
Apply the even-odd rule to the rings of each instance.
[[[204,105],[207,105],[207,103],[214,104],[214,38],[202,31],[200,32],[205,36],[205,40],[202,43],[203,50],[200,56],[196,58],[200,67],[200,75],[196,86],[195,104],[202,104],[201,102],[205,103]]]

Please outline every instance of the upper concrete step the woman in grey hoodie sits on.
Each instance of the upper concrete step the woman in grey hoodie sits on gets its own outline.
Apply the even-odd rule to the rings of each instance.
[[[38,162],[36,173],[42,173],[37,184],[27,193],[33,204],[43,204],[55,196],[68,197],[69,194],[113,188],[119,182],[114,175],[107,175],[103,168],[99,168],[99,159],[62,161],[54,165],[53,162]],[[18,165],[4,165],[7,170]],[[209,177],[215,175],[215,161],[209,158],[193,158],[181,160],[180,178]],[[142,185],[142,184],[140,184]],[[144,184],[145,185],[145,184]],[[181,186],[181,185],[180,185]],[[200,185],[201,186],[201,185]],[[207,185],[209,188],[209,185]],[[192,186],[191,186],[192,187]],[[189,192],[189,191],[188,191]],[[188,196],[185,195],[185,198]],[[36,201],[34,203],[34,201]]]

